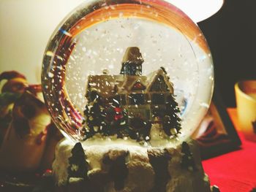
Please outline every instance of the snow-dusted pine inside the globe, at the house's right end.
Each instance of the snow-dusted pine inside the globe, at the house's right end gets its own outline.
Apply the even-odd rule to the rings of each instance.
[[[176,135],[181,130],[181,118],[178,113],[178,103],[173,95],[167,98],[165,116],[163,118],[163,129],[167,135]]]

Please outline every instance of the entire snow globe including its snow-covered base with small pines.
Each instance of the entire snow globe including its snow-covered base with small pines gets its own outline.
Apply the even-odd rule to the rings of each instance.
[[[45,50],[42,91],[66,137],[53,175],[69,191],[208,191],[189,136],[213,64],[195,23],[162,0],[86,1]]]

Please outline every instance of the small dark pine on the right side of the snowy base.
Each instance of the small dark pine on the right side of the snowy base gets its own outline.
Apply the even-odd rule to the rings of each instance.
[[[195,161],[187,142],[182,142],[181,153],[182,153],[181,167],[183,169],[188,169],[189,171],[195,170],[196,169]]]

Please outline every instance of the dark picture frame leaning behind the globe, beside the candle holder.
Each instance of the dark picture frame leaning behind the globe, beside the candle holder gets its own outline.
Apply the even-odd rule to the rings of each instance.
[[[198,142],[202,159],[239,149],[241,140],[217,88],[214,89],[208,113],[192,138]]]

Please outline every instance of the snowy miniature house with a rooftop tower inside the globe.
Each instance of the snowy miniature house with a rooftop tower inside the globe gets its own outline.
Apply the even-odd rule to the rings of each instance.
[[[154,121],[154,115],[165,110],[166,100],[173,94],[173,84],[163,68],[142,75],[142,64],[139,48],[128,47],[120,74],[90,75],[86,96],[89,91],[97,91],[105,102],[111,99],[118,101],[120,107],[127,110],[129,117],[139,116]]]

